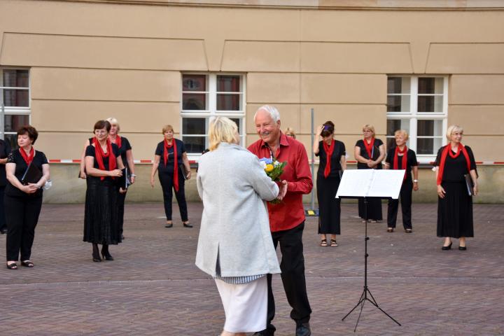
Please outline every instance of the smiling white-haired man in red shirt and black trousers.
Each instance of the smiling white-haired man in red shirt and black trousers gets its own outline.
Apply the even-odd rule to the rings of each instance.
[[[309,336],[311,308],[308,302],[304,279],[304,257],[302,232],[304,229],[304,207],[302,195],[313,188],[308,155],[304,146],[280,130],[280,113],[273,106],[262,106],[254,116],[255,128],[260,140],[248,147],[258,158],[276,158],[287,162],[280,176],[287,185],[287,194],[281,204],[267,204],[269,227],[273,244],[280,244],[282,259],[280,264],[283,288],[292,307],[290,318],[296,322],[296,336]],[[272,292],[272,274],[267,274],[268,312],[267,329],[255,335],[272,336],[276,328],[272,325],[275,307]]]

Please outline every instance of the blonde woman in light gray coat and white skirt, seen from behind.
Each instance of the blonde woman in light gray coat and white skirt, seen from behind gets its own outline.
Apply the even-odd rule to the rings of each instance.
[[[209,126],[197,190],[203,201],[196,265],[216,279],[225,311],[222,336],[266,328],[266,274],[280,273],[264,200],[286,188],[265,174],[258,158],[239,146],[237,125],[218,117]]]

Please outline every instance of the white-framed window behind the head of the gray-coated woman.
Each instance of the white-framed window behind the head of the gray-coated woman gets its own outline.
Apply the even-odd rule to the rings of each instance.
[[[183,73],[181,138],[188,155],[197,157],[208,148],[209,120],[228,117],[245,138],[245,76],[236,73]]]

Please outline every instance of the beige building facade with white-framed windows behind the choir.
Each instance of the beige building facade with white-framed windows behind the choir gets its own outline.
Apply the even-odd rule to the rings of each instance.
[[[315,125],[332,120],[349,162],[363,125],[389,144],[406,129],[422,164],[418,202],[435,201],[429,162],[461,125],[480,162],[475,200],[504,202],[501,0],[0,0],[0,91],[1,136],[15,144],[31,123],[52,160],[46,202],[83,202],[75,160],[96,120],[117,118],[132,143],[128,200],[153,202],[163,125],[197,162],[209,118],[237,121],[246,146],[263,104],[309,153],[311,110]]]

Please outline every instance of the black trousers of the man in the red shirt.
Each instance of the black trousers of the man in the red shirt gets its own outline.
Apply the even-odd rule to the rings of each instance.
[[[286,292],[287,301],[292,307],[290,318],[296,325],[307,323],[311,314],[308,302],[306,280],[304,279],[304,256],[302,245],[302,232],[304,222],[290,230],[272,232],[273,244],[280,244],[282,254],[280,269],[283,289]],[[273,335],[276,330],[272,321],[275,314],[274,297],[272,290],[272,274],[267,274],[268,284],[268,307],[267,307],[267,332]]]

